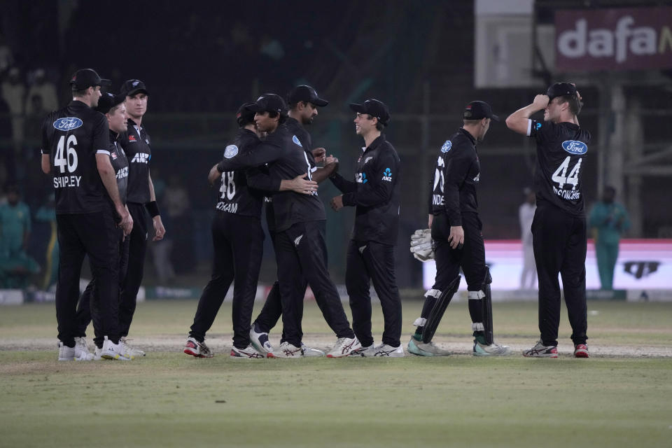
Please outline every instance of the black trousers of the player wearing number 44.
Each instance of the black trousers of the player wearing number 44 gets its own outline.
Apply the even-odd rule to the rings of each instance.
[[[532,244],[539,279],[539,331],[544,345],[558,344],[560,283],[574,344],[585,344],[586,218],[572,216],[551,204],[540,203],[532,221]]]

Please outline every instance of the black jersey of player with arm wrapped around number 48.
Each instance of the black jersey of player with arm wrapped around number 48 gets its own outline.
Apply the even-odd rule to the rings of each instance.
[[[232,151],[224,155],[219,167],[223,171],[237,171],[250,167],[268,165],[269,176],[274,179],[294,179],[308,172],[310,163],[298,137],[279,125],[248,151]],[[273,195],[275,231],[283,232],[296,223],[326,219],[324,205],[317,193],[302,195],[293,191],[281,191]]]

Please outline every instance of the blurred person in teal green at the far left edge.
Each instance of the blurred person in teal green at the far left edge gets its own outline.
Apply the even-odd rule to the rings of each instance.
[[[40,272],[26,253],[30,211],[19,201],[16,186],[7,188],[7,203],[0,205],[0,288],[25,288],[28,276]]]

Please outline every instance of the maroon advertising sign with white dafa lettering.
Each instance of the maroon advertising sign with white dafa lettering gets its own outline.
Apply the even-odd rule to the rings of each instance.
[[[558,10],[558,71],[672,68],[672,7]]]

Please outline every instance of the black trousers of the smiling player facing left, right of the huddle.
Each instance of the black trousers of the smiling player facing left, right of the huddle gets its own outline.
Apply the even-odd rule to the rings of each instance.
[[[350,297],[352,329],[365,347],[373,344],[369,292],[372,281],[383,309],[383,344],[398,347],[402,320],[401,298],[394,274],[394,246],[377,241],[350,240],[345,286]]]

